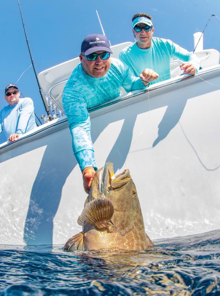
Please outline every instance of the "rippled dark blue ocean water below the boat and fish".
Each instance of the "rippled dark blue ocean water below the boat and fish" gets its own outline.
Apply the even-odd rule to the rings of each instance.
[[[220,295],[220,230],[141,252],[0,245],[0,295]]]

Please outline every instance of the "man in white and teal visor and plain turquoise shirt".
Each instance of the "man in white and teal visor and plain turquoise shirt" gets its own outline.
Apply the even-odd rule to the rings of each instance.
[[[184,74],[195,74],[200,67],[199,59],[191,52],[180,47],[169,39],[153,37],[153,24],[150,15],[138,13],[132,17],[132,31],[136,42],[120,52],[119,59],[139,76],[140,69],[148,68],[149,76],[152,71],[159,75],[151,84],[170,79],[171,59],[180,59],[183,63],[180,69]],[[145,72],[146,73],[146,72]]]

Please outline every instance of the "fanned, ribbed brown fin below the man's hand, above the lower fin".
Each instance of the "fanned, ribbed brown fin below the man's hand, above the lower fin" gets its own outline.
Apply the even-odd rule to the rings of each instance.
[[[111,200],[98,197],[89,202],[83,209],[82,218],[91,223],[98,230],[109,228],[109,221],[114,214],[114,206]]]

